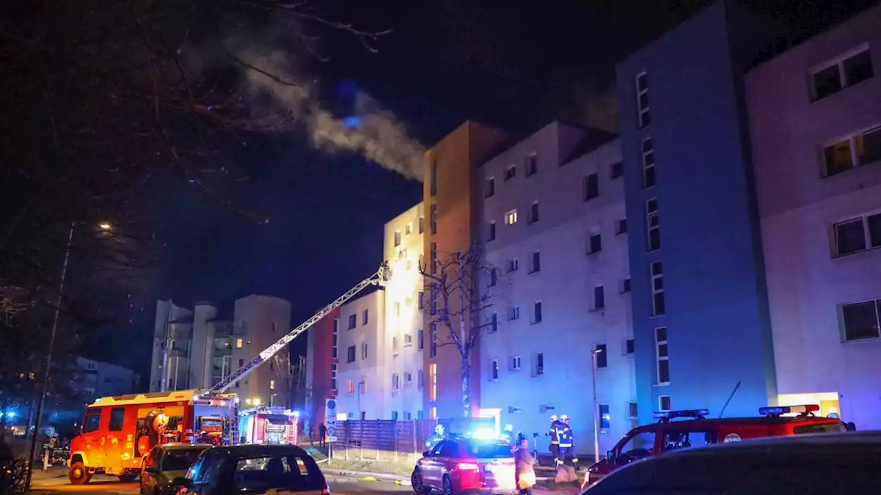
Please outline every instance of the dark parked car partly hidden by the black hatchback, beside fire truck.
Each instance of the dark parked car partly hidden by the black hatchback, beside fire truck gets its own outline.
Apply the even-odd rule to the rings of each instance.
[[[153,447],[141,470],[141,495],[171,495],[174,478],[187,474],[199,454],[210,445],[169,443]]]

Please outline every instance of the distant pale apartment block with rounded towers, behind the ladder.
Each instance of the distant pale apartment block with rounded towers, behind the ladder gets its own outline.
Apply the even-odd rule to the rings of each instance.
[[[291,304],[285,299],[250,295],[236,299],[233,311],[196,303],[192,309],[171,300],[156,305],[150,391],[211,388],[244,366],[291,330]],[[279,385],[284,370],[274,361],[258,367],[229,389],[242,403],[287,405]]]

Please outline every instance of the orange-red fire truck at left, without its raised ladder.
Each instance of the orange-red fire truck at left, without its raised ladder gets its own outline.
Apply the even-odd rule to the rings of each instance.
[[[233,445],[237,403],[235,394],[208,390],[95,399],[85,410],[79,434],[70,441],[70,483],[88,483],[97,472],[133,481],[141,473],[144,456],[161,444]]]

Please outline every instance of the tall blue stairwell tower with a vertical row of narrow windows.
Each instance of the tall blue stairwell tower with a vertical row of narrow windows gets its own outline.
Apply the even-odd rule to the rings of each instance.
[[[742,75],[778,33],[722,0],[618,63],[642,423],[776,401]]]

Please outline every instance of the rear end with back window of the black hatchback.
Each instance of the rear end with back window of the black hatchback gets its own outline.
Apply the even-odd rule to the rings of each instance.
[[[236,463],[235,487],[239,491],[260,493],[272,489],[315,491],[324,488],[324,476],[307,455],[249,457]]]

